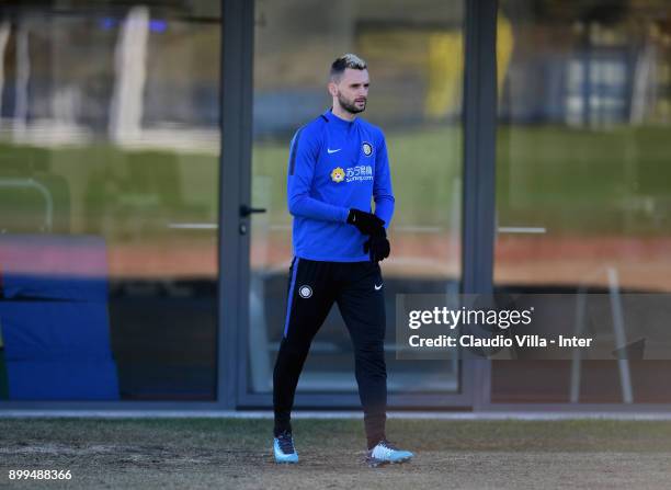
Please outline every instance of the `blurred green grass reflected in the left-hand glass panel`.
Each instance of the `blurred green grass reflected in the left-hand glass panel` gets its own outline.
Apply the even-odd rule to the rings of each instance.
[[[109,145],[59,149],[0,145],[0,178],[34,178],[55,201],[55,229],[105,235],[166,232],[170,221],[215,221],[218,158],[168,151],[126,151]],[[0,216],[31,231],[44,220],[34,191],[4,189]]]

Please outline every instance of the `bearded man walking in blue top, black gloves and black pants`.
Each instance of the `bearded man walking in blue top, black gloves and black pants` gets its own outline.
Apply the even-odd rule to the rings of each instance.
[[[378,262],[389,257],[386,228],[394,194],[385,136],[356,117],[366,109],[368,83],[364,60],[352,54],[336,59],[328,84],[332,109],[298,129],[289,149],[287,197],[295,257],[273,374],[277,463],[298,461],[291,425],[294,395],[312,338],[333,303],[354,345],[368,463],[412,457],[385,435],[386,320]]]

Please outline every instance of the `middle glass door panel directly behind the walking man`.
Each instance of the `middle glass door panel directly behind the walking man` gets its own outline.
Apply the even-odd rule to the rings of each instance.
[[[382,263],[390,392],[460,389],[454,362],[396,360],[397,293],[450,293],[460,280],[463,4],[423,0],[257,0],[249,389],[272,390],[286,314],[292,217],[286,172],[292,136],[331,104],[333,59],[353,52],[369,68],[362,116],[385,132],[396,212],[391,255]],[[300,392],[356,392],[353,353],[338,308],[321,327]]]

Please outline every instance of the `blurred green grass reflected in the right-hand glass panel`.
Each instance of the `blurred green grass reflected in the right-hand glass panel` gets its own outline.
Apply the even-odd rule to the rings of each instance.
[[[667,235],[669,156],[662,127],[501,128],[499,223],[546,226],[557,235]]]

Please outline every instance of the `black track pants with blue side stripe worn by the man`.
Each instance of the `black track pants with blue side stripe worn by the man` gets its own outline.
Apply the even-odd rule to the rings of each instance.
[[[333,303],[354,346],[355,376],[368,447],[385,436],[387,371],[385,298],[376,262],[320,262],[295,258],[289,269],[284,334],[273,373],[275,435],[291,431],[298,376],[310,343]]]

